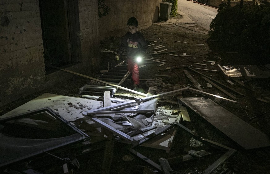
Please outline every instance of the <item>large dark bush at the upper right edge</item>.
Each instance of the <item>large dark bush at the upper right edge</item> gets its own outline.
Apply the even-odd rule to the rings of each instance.
[[[258,63],[269,63],[270,3],[230,6],[222,3],[210,23],[209,39],[228,50],[249,54]]]

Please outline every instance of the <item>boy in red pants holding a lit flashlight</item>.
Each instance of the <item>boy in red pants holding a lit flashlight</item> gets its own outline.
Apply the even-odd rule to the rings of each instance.
[[[138,20],[135,17],[131,17],[127,21],[129,32],[124,35],[120,43],[118,53],[116,54],[116,60],[119,60],[120,54],[126,50],[127,56],[127,69],[132,75],[135,91],[139,89],[139,65],[137,58],[145,55],[148,45],[144,39],[144,36],[138,31]]]

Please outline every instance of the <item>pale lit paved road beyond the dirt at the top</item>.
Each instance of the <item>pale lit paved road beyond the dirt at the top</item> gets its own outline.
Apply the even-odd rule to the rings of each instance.
[[[191,19],[198,23],[199,26],[210,30],[210,23],[217,14],[217,9],[204,6],[189,0],[178,0],[178,13],[184,16],[184,19]]]

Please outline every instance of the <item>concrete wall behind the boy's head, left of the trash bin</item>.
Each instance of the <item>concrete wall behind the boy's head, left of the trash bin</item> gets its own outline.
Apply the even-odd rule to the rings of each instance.
[[[100,38],[110,35],[123,35],[127,30],[127,20],[134,16],[139,21],[139,30],[149,27],[159,18],[161,0],[106,0],[111,9],[109,15],[99,19]]]

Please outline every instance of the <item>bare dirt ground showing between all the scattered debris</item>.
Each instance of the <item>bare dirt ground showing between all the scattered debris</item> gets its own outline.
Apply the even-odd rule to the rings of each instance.
[[[183,24],[181,23],[181,16],[171,18],[175,19],[174,23],[168,22],[157,22],[152,24],[150,27],[140,30],[145,39],[148,41],[148,44],[155,44],[153,46],[149,46],[148,50],[152,50],[155,46],[164,45],[164,48],[168,49],[164,52],[171,52],[170,54],[174,55],[183,55],[184,53],[188,56],[172,56],[169,54],[158,54],[158,55],[147,55],[147,58],[159,59],[160,61],[166,61],[165,65],[158,66],[160,63],[152,63],[151,60],[144,60],[141,64],[146,66],[140,68],[140,88],[145,90],[145,93],[148,92],[148,86],[145,83],[145,79],[155,79],[162,78],[162,81],[173,88],[175,85],[180,85],[182,87],[191,87],[195,88],[192,83],[185,77],[183,70],[187,70],[191,76],[200,84],[201,88],[204,92],[208,92],[215,95],[220,95],[221,97],[225,97],[231,99],[226,96],[224,93],[216,89],[215,87],[207,88],[206,81],[199,75],[191,71],[184,66],[192,66],[195,68],[204,68],[204,69],[212,69],[218,70],[217,64],[220,65],[239,65],[239,64],[248,64],[248,62],[242,61],[240,58],[244,55],[238,55],[238,53],[230,52],[227,50],[222,50],[218,48],[213,48],[215,43],[209,43],[207,41],[208,34],[207,31],[200,28],[196,24]],[[118,47],[120,42],[120,36],[110,36],[103,40],[101,40],[101,50],[109,49],[115,51],[115,47]],[[154,42],[156,41],[156,43]],[[175,42],[181,41],[181,42]],[[186,43],[183,43],[186,42]],[[234,51],[234,50],[233,50]],[[153,51],[149,51],[149,53],[153,53]],[[114,59],[114,54],[108,52],[101,52],[101,68],[100,70],[105,70],[109,67],[113,67],[119,62],[125,60],[124,56],[120,56],[120,60],[116,61]],[[203,60],[208,61],[216,61],[217,63],[214,66],[210,66],[209,62],[204,62]],[[151,62],[151,63],[149,63]],[[200,64],[208,64],[208,66],[198,65],[194,63]],[[169,70],[165,70],[165,68],[170,67]],[[239,104],[233,104],[230,102],[222,101],[221,104],[227,110],[246,121],[250,125],[259,129],[268,137],[270,136],[270,107],[269,104],[264,102],[259,102],[256,98],[264,98],[270,97],[269,87],[270,81],[268,79],[253,79],[251,81],[246,82],[245,84],[248,86],[247,88],[241,85],[230,85],[224,76],[220,72],[209,72],[197,70],[200,73],[207,75],[231,88],[237,90],[240,93],[245,94],[246,96],[241,96],[232,91],[230,92],[232,95],[237,97],[235,101],[238,101]],[[92,77],[98,77],[101,74],[99,71],[92,72]],[[155,75],[166,75],[171,77],[158,77]],[[77,96],[78,89],[85,84],[89,84],[89,79],[85,79],[84,77],[78,77],[75,75],[71,75],[71,79],[65,82],[61,82],[58,85],[55,85],[45,91],[35,93],[31,96],[27,96],[21,98],[20,100],[11,103],[9,106],[5,106],[1,109],[1,115],[18,107],[25,102],[28,102],[32,98],[39,96],[42,93],[54,93],[58,95],[66,95],[66,96]],[[126,81],[124,81],[123,87],[133,89],[133,83],[131,81],[131,77],[128,77]],[[170,91],[172,89],[160,89],[161,92]],[[226,90],[226,89],[225,89]],[[122,90],[118,90],[115,94],[116,97],[121,98]],[[131,95],[133,98],[139,97],[136,95]],[[194,93],[183,93],[183,97],[194,97],[200,96],[199,94]],[[126,97],[126,96],[124,96]],[[132,97],[131,97],[132,98]],[[175,95],[166,96],[166,100],[177,101]],[[158,106],[162,108],[169,109],[177,109],[178,105],[172,104],[169,102],[158,102]],[[263,114],[266,113],[266,114]],[[263,115],[260,115],[263,114]],[[258,116],[257,118],[250,119],[254,116]],[[213,127],[210,123],[206,122],[204,119],[200,118],[197,114],[190,112],[191,122],[182,122],[184,126],[189,128],[191,131],[196,132],[200,136],[215,141],[217,143],[223,144],[225,146],[236,149],[237,151],[225,161],[225,163],[221,164],[221,166],[216,169],[213,173],[268,173],[270,170],[270,148],[260,148],[253,150],[243,150],[237,144],[235,144],[231,139],[226,137],[222,132],[219,132],[215,127]],[[147,156],[149,159],[158,162],[158,159],[163,158],[172,158],[183,154],[186,146],[191,146],[191,138],[185,138],[188,135],[178,131],[173,147],[169,153],[166,153],[163,150],[157,150],[152,148],[142,148],[139,147],[137,150],[142,154]],[[189,140],[187,143],[185,140]],[[200,146],[199,142],[193,141],[196,146]],[[187,144],[188,145],[187,145]],[[132,155],[126,150],[123,150],[124,145],[117,144],[114,147],[114,158],[113,163],[111,165],[110,173],[151,173],[154,168],[149,166],[149,164],[140,160],[135,155]],[[206,147],[204,147],[206,148]],[[215,151],[208,147],[209,151],[213,151],[215,154],[214,157],[219,157],[220,151]],[[102,152],[97,152],[97,154],[91,154],[87,157],[80,157],[78,160],[81,164],[81,168],[77,173],[100,173],[102,157],[98,155]],[[124,155],[131,155],[131,161],[124,161],[122,157]],[[191,162],[177,164],[171,166],[175,173],[202,173],[204,169],[206,169],[210,164],[215,161],[213,156],[209,158],[202,158],[199,160],[193,160]],[[91,167],[90,167],[91,166]],[[146,172],[147,169],[151,170],[151,172]],[[75,171],[76,173],[76,171]],[[152,172],[155,173],[155,172]]]

